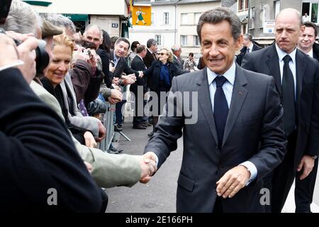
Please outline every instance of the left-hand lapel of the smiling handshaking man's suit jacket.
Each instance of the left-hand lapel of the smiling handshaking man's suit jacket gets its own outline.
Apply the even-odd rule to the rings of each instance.
[[[216,143],[218,143],[218,136],[216,132],[215,119],[213,115],[213,107],[211,106],[211,98],[208,88],[208,79],[207,79],[207,69],[206,67],[202,70],[201,76],[198,77],[198,81],[196,82],[200,87],[198,89],[198,103],[203,111],[203,115],[205,116],[206,122],[208,123],[209,129],[215,139]]]

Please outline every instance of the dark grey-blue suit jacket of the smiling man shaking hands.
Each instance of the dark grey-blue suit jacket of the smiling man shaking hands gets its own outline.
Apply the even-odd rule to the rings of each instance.
[[[173,79],[172,92],[198,92],[198,100],[191,101],[190,107],[186,107],[193,109],[194,113],[186,116],[186,112],[179,109],[181,116],[172,116],[172,113],[167,114],[165,106],[166,111],[159,118],[145,153],[155,152],[159,157],[158,167],[161,167],[170,152],[177,149],[177,139],[184,133],[184,153],[177,182],[177,212],[211,213],[218,179],[231,168],[249,160],[257,167],[257,179],[232,199],[222,199],[223,211],[263,212],[264,207],[259,202],[262,177],[279,165],[286,145],[283,111],[274,79],[236,66],[223,145],[218,150],[206,70]],[[167,104],[176,107],[175,104],[184,103],[181,99],[189,100],[181,96],[175,99],[170,94]],[[191,117],[195,121],[187,123]]]

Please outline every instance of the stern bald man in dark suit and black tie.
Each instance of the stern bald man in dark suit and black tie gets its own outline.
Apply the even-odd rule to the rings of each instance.
[[[296,170],[300,179],[313,169],[319,150],[319,66],[318,62],[296,48],[304,31],[301,13],[284,9],[276,17],[276,42],[250,55],[242,67],[274,77],[284,108],[284,130],[288,137],[283,162],[267,177],[271,189],[269,211],[281,212],[289,194]]]

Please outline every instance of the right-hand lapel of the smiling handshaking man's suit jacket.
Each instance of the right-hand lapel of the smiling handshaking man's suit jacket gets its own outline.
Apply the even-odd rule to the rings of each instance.
[[[223,145],[225,144],[225,141],[227,140],[230,131],[233,129],[237,116],[240,113],[240,109],[242,109],[242,104],[244,104],[244,101],[246,99],[248,91],[247,89],[245,89],[245,84],[247,84],[245,74],[242,68],[240,68],[236,64],[235,83],[233,87],[232,100],[230,101],[230,109],[228,112],[227,121],[225,125]]]

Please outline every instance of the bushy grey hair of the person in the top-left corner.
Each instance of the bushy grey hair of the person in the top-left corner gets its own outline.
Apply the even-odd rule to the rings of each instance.
[[[42,19],[32,6],[23,1],[13,0],[6,22],[1,27],[5,31],[37,35],[37,29],[41,26]]]

